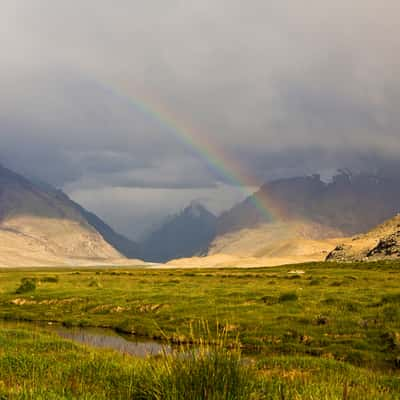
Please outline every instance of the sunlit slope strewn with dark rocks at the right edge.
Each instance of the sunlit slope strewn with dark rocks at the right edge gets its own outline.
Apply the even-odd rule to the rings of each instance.
[[[338,245],[327,261],[400,260],[400,214]]]

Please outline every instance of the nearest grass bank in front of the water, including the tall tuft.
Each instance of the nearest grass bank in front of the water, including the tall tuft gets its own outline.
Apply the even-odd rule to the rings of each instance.
[[[398,399],[399,377],[334,360],[270,357],[206,345],[136,359],[38,329],[0,331],[1,399]]]

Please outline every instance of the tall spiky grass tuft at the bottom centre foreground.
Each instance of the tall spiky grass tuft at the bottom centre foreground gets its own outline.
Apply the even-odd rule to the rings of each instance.
[[[225,327],[217,324],[211,334],[202,323],[204,334],[196,346],[181,345],[172,354],[165,354],[157,363],[149,360],[147,374],[135,393],[136,399],[149,400],[220,400],[249,399],[256,381],[250,364],[244,362],[240,342],[228,340]],[[148,372],[151,371],[149,374]]]

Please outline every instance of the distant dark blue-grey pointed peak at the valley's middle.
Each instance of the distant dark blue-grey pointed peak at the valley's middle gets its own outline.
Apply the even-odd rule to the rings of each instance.
[[[146,261],[165,262],[207,251],[215,237],[216,217],[198,202],[169,217],[142,244]]]

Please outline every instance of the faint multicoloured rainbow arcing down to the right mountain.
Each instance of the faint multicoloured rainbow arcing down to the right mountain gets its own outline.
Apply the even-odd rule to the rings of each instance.
[[[128,102],[144,115],[155,119],[161,126],[174,135],[185,147],[194,151],[209,167],[218,171],[232,185],[237,186],[246,197],[249,197],[265,221],[281,218],[281,210],[266,193],[253,192],[249,188],[259,187],[259,182],[246,174],[237,160],[233,160],[216,143],[206,141],[196,128],[182,118],[177,118],[164,105],[140,96],[140,100],[120,90],[101,84],[104,91]]]

